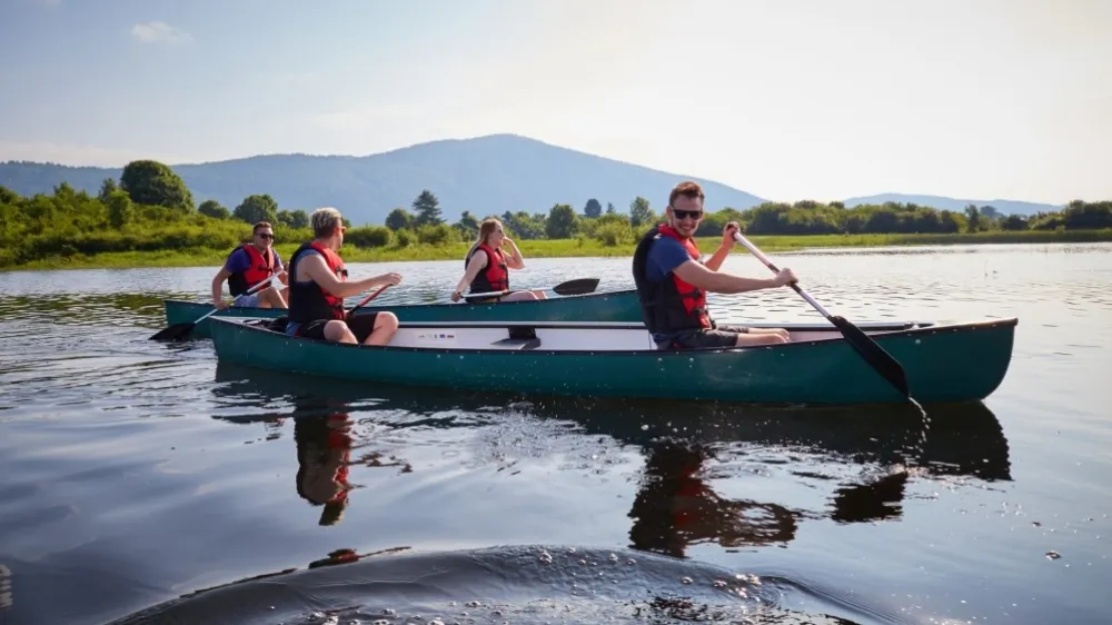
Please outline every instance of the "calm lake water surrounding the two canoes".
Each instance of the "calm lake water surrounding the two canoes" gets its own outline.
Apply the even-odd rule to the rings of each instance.
[[[218,366],[209,341],[148,340],[215,268],[0,274],[0,622],[107,623],[291,572],[133,622],[1108,623],[1110,252],[773,255],[852,320],[1019,317],[1000,389],[927,406],[922,445],[902,407]],[[513,279],[629,288],[628,262],[527,259]],[[767,274],[744,251],[725,269]],[[376,304],[436,301],[460,264],[353,267],[387,270],[406,281]],[[817,318],[788,289],[712,302]]]

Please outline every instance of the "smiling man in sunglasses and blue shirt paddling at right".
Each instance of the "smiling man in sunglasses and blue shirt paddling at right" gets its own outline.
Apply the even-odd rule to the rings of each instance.
[[[767,279],[743,278],[718,267],[734,246],[738,226],[731,221],[722,232],[722,245],[703,262],[695,246],[695,231],[703,220],[703,188],[681,182],[668,197],[665,224],[645,234],[633,256],[633,277],[641,298],[645,326],[661,349],[744,347],[787,343],[782,328],[719,326],[707,310],[707,292],[747,292],[776,288],[795,280],[784,268]]]

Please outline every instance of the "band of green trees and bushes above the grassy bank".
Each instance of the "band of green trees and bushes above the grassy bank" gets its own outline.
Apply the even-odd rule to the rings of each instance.
[[[644,197],[628,210],[613,204],[604,209],[588,200],[582,212],[556,204],[547,211],[505,212],[510,237],[528,239],[595,239],[603,245],[629,244],[662,218]],[[423,190],[409,207],[395,208],[381,226],[348,226],[346,242],[356,247],[444,245],[473,240],[481,219],[464,210],[448,224],[431,190]],[[0,267],[53,256],[107,251],[228,249],[250,239],[250,224],[274,224],[278,239],[311,238],[304,209],[280,209],[267,194],[250,195],[232,209],[214,200],[195,205],[185,181],[168,166],[152,160],[128,163],[119,180],[108,178],[93,196],[58,185],[51,195],[23,197],[0,186]],[[717,236],[728,221],[753,235],[977,232],[985,230],[1091,230],[1112,228],[1112,201],[1075,200],[1054,212],[1030,218],[1000,215],[991,206],[969,206],[962,212],[913,204],[847,208],[841,202],[811,200],[766,202],[745,210],[708,212],[698,236]]]

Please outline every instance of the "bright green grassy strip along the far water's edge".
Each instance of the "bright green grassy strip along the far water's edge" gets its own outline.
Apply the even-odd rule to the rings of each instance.
[[[975,244],[1056,244],[1112,241],[1112,229],[1103,230],[996,230],[974,234],[924,234],[924,235],[771,235],[751,236],[751,241],[762,251],[793,251],[815,248],[837,247],[883,247],[924,245],[975,245]],[[699,248],[711,252],[719,241],[718,237],[698,239]],[[279,244],[279,254],[288,259],[297,248],[296,242]],[[632,256],[634,244],[624,242],[606,246],[595,239],[518,240],[522,254],[528,258],[564,257],[610,257]],[[466,254],[469,242],[446,245],[411,245],[407,247],[359,248],[345,246],[341,250],[348,262],[409,261],[409,260],[459,260]],[[139,267],[217,267],[228,254],[227,249],[177,249],[158,251],[119,251],[92,256],[54,256],[8,267],[20,269],[112,269]],[[744,252],[739,249],[738,252]]]

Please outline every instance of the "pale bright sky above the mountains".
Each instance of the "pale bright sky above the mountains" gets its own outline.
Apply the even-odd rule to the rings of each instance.
[[[0,160],[513,132],[778,200],[1112,199],[1112,0],[0,0]]]

